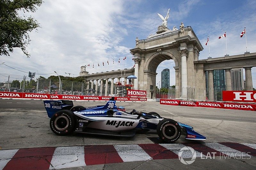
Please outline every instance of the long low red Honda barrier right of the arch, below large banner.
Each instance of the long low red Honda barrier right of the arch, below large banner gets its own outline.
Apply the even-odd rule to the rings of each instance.
[[[256,111],[256,104],[249,104],[249,103],[247,104],[247,103],[231,103],[231,102],[185,101],[185,100],[160,99],[160,104]]]

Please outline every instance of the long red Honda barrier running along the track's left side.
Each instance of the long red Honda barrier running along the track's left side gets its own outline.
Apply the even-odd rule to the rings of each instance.
[[[110,100],[110,96],[78,96],[65,94],[44,94],[44,93],[22,93],[22,92],[0,92],[2,99],[36,99],[36,100]],[[115,97],[117,101],[147,101],[147,98]]]

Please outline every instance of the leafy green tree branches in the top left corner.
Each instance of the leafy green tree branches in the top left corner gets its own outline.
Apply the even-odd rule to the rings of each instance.
[[[19,16],[19,12],[35,12],[42,3],[42,0],[0,1],[0,55],[10,56],[13,48],[20,48],[27,57],[30,56],[26,50],[30,41],[28,32],[39,27],[39,24],[31,16]]]

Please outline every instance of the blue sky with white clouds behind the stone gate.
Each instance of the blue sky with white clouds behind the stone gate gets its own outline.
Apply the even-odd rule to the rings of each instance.
[[[86,70],[95,73],[125,68],[122,60],[127,56],[127,68],[132,68],[130,49],[135,47],[135,39],[146,39],[155,34],[162,20],[157,13],[166,15],[170,8],[168,26],[191,26],[204,47],[199,59],[209,56],[205,46],[210,36],[211,57],[226,54],[225,39],[218,39],[227,31],[229,55],[244,54],[245,37],[240,33],[246,26],[247,46],[251,53],[256,52],[256,1],[238,0],[190,0],[190,1],[148,1],[148,0],[44,0],[35,13],[29,13],[40,23],[38,31],[30,33],[31,54],[27,58],[20,49],[10,56],[1,56],[13,68],[39,74],[58,72],[60,75],[77,76],[82,65],[90,64]],[[107,61],[109,60],[109,67]],[[105,66],[102,68],[102,62]],[[92,64],[94,68],[92,69]],[[98,67],[98,63],[100,67]],[[156,83],[160,81],[161,71],[169,68],[171,85],[175,84],[174,62],[166,60],[157,68]],[[24,75],[26,73],[0,66],[1,73]],[[52,74],[54,75],[54,74]],[[40,75],[36,75],[39,77]],[[50,75],[44,75],[49,77]],[[256,69],[252,68],[253,86],[256,86]]]

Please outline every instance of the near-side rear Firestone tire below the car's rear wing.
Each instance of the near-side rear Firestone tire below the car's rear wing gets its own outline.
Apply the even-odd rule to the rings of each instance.
[[[71,134],[76,127],[76,117],[70,110],[60,110],[52,115],[50,128],[53,133],[64,136]]]

